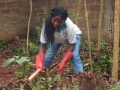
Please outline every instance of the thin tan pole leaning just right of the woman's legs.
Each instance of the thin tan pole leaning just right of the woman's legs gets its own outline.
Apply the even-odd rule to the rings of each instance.
[[[93,73],[92,58],[91,58],[91,45],[90,45],[90,29],[89,29],[88,11],[87,11],[87,6],[86,6],[86,0],[84,0],[84,4],[85,4],[86,24],[87,24],[87,30],[88,30],[89,60],[90,60],[91,72]]]

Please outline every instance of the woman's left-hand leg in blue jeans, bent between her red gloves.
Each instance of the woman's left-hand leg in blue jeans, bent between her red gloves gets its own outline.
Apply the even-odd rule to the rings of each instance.
[[[48,49],[45,53],[45,58],[44,58],[44,66],[45,67],[47,67],[47,68],[50,67],[50,65],[53,62],[54,57],[61,45],[62,44],[56,43],[56,42],[49,44]]]

